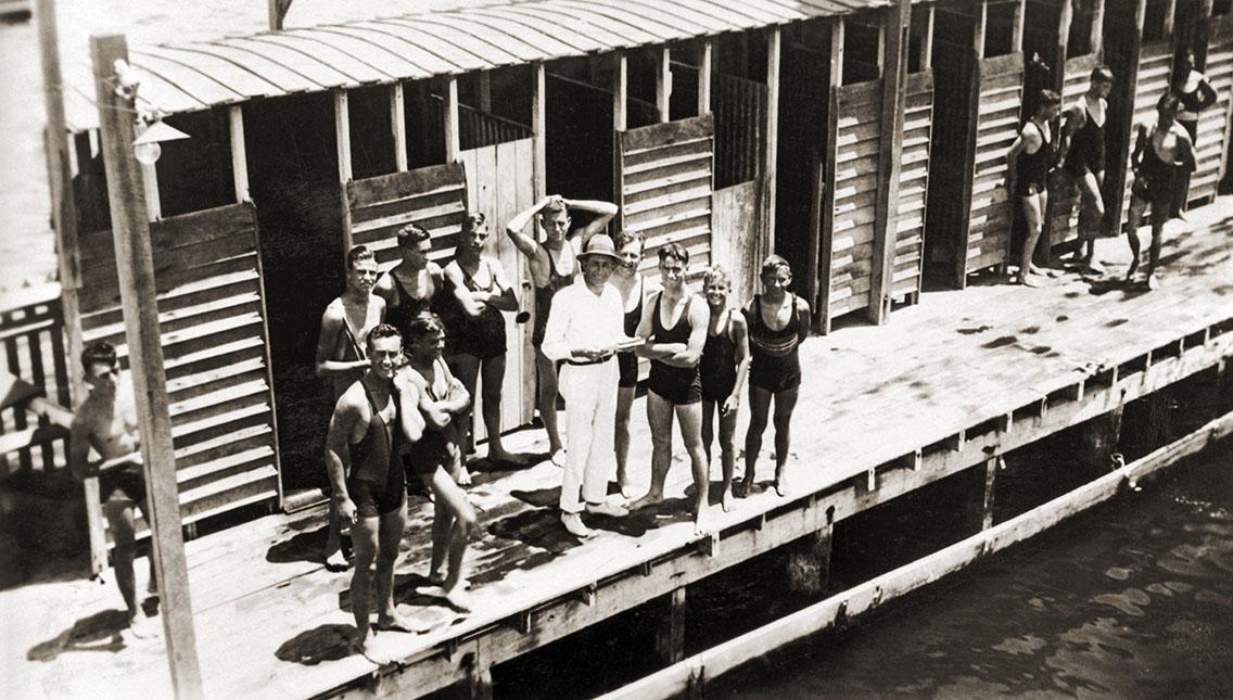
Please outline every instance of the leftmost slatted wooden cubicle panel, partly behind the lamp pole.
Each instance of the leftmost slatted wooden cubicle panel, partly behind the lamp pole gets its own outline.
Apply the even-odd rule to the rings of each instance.
[[[150,224],[185,523],[280,495],[256,214],[229,205]],[[127,366],[111,232],[81,235],[83,336]]]

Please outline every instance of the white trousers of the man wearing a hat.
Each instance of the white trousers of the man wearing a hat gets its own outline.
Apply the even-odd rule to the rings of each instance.
[[[619,372],[615,359],[561,366],[557,386],[565,397],[565,434],[570,440],[561,478],[562,513],[581,513],[583,500],[598,504],[608,498],[608,477],[616,472],[613,436]]]

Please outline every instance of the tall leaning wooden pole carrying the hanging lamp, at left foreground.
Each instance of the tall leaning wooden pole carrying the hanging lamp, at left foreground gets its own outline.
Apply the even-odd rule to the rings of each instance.
[[[201,698],[189,569],[181,536],[175,450],[168,407],[163,344],[155,304],[154,261],[145,214],[141,170],[133,158],[133,102],[116,95],[116,60],[128,60],[122,35],[90,38],[99,127],[107,171],[116,271],[125,313],[128,364],[137,401],[141,450],[152,530],[155,576],[163,617],[163,638],[171,669],[171,686],[180,699]]]

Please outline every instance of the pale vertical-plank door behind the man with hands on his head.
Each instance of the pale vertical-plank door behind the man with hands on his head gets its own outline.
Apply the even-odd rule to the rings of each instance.
[[[529,138],[464,150],[462,168],[466,173],[466,201],[473,211],[488,217],[487,254],[501,260],[509,283],[519,296],[520,306],[531,313],[535,306],[528,298],[529,281],[526,265],[509,237],[504,234],[506,222],[515,213],[535,203],[533,189],[535,153]],[[506,317],[506,377],[501,391],[501,425],[509,430],[530,423],[535,408],[535,355],[530,348],[526,324],[514,323],[514,314]],[[475,439],[487,436],[480,419],[482,401],[476,397]]]

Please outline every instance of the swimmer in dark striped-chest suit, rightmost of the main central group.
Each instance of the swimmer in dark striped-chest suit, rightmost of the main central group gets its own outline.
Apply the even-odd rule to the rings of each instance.
[[[788,292],[792,267],[778,255],[762,262],[762,293],[745,307],[750,327],[750,429],[745,434],[745,477],[737,495],[757,483],[755,467],[762,450],[771,401],[774,399],[774,489],[787,493],[783,466],[788,461],[792,410],[800,392],[799,345],[809,335],[809,303]]]

